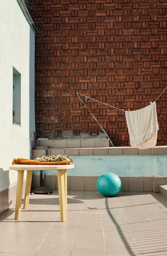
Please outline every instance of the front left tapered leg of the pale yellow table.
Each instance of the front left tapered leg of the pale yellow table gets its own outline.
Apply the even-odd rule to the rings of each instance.
[[[15,219],[20,219],[21,214],[21,200],[23,192],[23,177],[24,170],[19,170],[17,174],[17,192],[16,192],[16,208],[15,208]]]

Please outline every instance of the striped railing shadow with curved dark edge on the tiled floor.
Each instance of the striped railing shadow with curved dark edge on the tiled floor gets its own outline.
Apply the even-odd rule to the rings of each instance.
[[[105,199],[107,212],[130,255],[167,255],[167,200],[154,193]]]

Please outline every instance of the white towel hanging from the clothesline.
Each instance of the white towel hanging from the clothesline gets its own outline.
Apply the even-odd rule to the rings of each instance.
[[[125,111],[130,145],[139,149],[153,148],[157,143],[157,111],[155,101],[145,108]]]

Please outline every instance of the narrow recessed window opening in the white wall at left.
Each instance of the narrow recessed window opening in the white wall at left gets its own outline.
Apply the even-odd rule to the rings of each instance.
[[[13,67],[13,123],[21,124],[21,74]]]

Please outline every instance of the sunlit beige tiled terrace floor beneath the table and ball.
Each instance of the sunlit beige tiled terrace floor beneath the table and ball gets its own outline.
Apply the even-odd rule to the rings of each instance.
[[[0,255],[167,255],[167,200],[161,194],[69,191],[67,222],[60,222],[57,191],[31,195],[14,220],[0,215]]]

